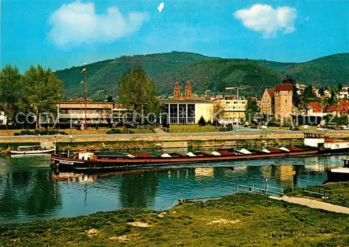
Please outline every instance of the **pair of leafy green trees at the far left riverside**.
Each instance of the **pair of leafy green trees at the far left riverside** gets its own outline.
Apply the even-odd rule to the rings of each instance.
[[[35,116],[38,128],[39,116],[52,110],[52,103],[61,100],[64,84],[50,68],[31,66],[24,75],[10,65],[0,71],[0,110],[6,118],[6,129],[10,121],[15,122],[18,112]]]

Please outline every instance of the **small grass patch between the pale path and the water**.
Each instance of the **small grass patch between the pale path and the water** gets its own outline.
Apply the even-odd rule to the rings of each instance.
[[[322,202],[329,202],[343,207],[349,207],[349,182],[336,184],[322,184],[320,187],[331,188],[331,198],[323,200],[320,197],[314,197],[308,193],[304,193],[306,188],[297,188],[294,193],[288,193],[289,196],[306,197]]]

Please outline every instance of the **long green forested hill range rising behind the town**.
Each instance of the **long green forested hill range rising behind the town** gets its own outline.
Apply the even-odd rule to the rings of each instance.
[[[174,82],[192,82],[193,91],[209,89],[224,93],[225,87],[248,86],[247,96],[260,96],[265,87],[274,87],[284,75],[292,75],[304,84],[333,87],[349,84],[349,54],[334,54],[305,63],[280,63],[265,60],[220,59],[189,52],[120,57],[87,65],[89,96],[104,98],[117,95],[121,75],[140,65],[156,83],[158,94],[172,94]],[[82,67],[57,70],[64,81],[65,96],[75,98],[83,94]]]

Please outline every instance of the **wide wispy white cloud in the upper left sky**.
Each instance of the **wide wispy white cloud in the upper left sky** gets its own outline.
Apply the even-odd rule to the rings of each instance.
[[[147,13],[130,12],[124,17],[117,7],[97,15],[94,3],[64,4],[50,16],[50,39],[61,47],[81,43],[112,42],[138,31],[148,20]]]

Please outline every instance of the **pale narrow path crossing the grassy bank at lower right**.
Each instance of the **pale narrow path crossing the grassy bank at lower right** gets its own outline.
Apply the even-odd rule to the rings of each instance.
[[[279,201],[285,201],[285,202],[295,203],[299,205],[304,205],[306,207],[311,207],[313,209],[323,209],[323,210],[332,211],[332,212],[341,213],[341,214],[349,214],[348,207],[341,207],[341,206],[337,206],[327,202],[319,202],[317,200],[311,200],[311,199],[300,198],[300,197],[274,197],[274,196],[269,196],[269,197]]]

